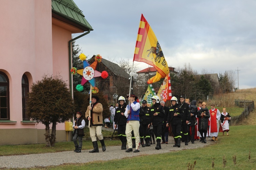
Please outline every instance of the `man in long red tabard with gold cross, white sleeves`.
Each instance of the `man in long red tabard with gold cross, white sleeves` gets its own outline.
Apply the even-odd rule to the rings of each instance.
[[[212,141],[218,140],[219,133],[219,119],[221,118],[221,112],[217,108],[215,108],[215,104],[211,104],[210,109],[210,128],[209,128],[209,136],[212,137]]]

